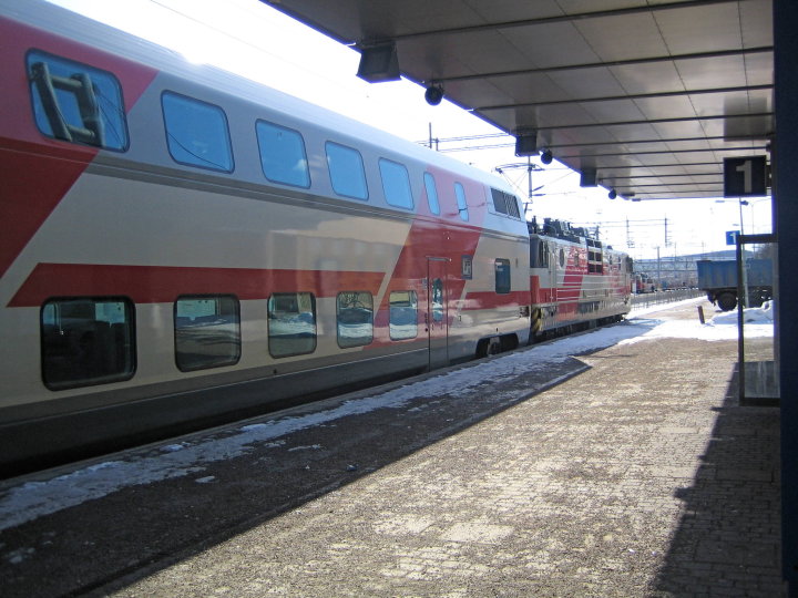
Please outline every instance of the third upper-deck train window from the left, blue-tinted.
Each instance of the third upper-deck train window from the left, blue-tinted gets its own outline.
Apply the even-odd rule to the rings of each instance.
[[[273,183],[308,188],[310,173],[301,134],[266,121],[258,121],[255,131],[266,178]]]

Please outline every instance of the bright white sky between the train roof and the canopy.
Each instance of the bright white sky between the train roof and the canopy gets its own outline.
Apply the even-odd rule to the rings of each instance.
[[[361,81],[356,76],[359,54],[355,50],[259,0],[50,1],[176,50],[192,62],[226,69],[413,142],[429,137],[430,124],[433,136],[440,138],[501,133],[446,100],[429,106],[415,83]],[[512,138],[473,142],[501,143],[509,146],[449,155],[483,171],[505,166],[501,176],[526,200],[525,158],[515,157]],[[463,146],[441,147],[452,145]],[[540,188],[532,197],[530,218],[604,223],[602,240],[620,249],[631,241],[628,251],[635,258],[656,257],[657,247],[667,256],[727,249],[725,231],[740,228],[736,199],[611,200],[602,187],[581,188],[579,175],[556,161],[549,166],[538,159],[533,163],[544,171],[532,175],[532,187]],[[743,208],[744,231],[769,233],[769,199],[753,199]]]

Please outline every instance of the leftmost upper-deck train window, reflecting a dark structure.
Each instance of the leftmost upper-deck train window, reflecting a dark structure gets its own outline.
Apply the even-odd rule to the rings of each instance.
[[[48,137],[127,150],[127,123],[117,79],[79,62],[32,51],[27,56],[33,117]]]

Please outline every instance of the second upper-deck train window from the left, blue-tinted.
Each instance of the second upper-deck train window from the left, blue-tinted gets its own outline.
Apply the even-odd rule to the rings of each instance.
[[[161,95],[166,143],[175,162],[233,172],[233,150],[224,111],[173,92]]]

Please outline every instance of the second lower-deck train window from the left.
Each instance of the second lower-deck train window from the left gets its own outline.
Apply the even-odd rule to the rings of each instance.
[[[180,297],[174,306],[175,361],[183,372],[234,365],[241,359],[238,299]]]

